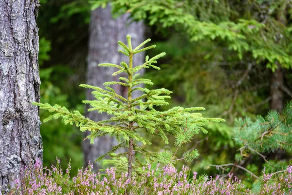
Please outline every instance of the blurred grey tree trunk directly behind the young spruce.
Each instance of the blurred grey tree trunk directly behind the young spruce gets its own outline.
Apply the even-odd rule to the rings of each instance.
[[[128,57],[118,53],[118,40],[127,43],[126,36],[131,35],[133,48],[144,41],[143,22],[131,22],[128,15],[123,15],[117,19],[111,16],[111,8],[108,5],[105,9],[98,8],[91,12],[90,39],[89,39],[89,58],[87,70],[87,84],[103,87],[103,83],[111,80],[118,80],[112,77],[114,71],[110,67],[98,67],[99,63],[119,64],[121,61],[128,62]],[[144,62],[144,54],[139,53],[134,56],[133,64],[140,65]],[[140,74],[143,72],[140,72]],[[126,88],[117,85],[112,86],[116,93],[127,97]],[[91,90],[87,90],[86,99],[93,99]],[[97,112],[87,113],[87,117],[95,121],[108,119],[107,114]],[[86,134],[86,136],[88,133]],[[117,141],[113,137],[101,137],[90,144],[89,140],[83,142],[85,164],[90,160],[94,162],[96,158],[108,152]],[[93,164],[94,170],[100,168],[97,163]]]

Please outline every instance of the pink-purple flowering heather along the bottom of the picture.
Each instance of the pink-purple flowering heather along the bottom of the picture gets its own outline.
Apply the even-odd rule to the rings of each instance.
[[[56,166],[52,169],[43,169],[39,161],[35,164],[33,173],[24,172],[23,179],[16,181],[16,186],[11,190],[11,195],[121,195],[127,191],[131,195],[237,195],[253,192],[245,188],[241,180],[229,175],[227,179],[219,176],[197,177],[194,172],[189,178],[189,168],[183,166],[179,172],[172,165],[166,165],[159,170],[152,169],[149,164],[143,167],[141,175],[128,173],[117,175],[116,168],[108,168],[105,174],[95,174],[92,164],[78,171],[77,176],[70,178],[70,163],[66,173],[63,173],[57,159]],[[259,195],[284,195],[291,194],[292,166],[274,174],[263,172]],[[279,175],[281,174],[281,175]],[[34,175],[34,176],[33,176]],[[277,180],[272,177],[278,175]]]

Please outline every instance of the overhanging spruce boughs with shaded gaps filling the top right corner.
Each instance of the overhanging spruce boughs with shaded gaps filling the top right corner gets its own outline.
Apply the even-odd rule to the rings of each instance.
[[[93,9],[105,4],[91,3]],[[222,41],[239,59],[249,54],[257,63],[266,61],[272,70],[277,68],[276,62],[292,67],[287,51],[291,47],[291,28],[286,27],[292,13],[289,0],[115,0],[111,5],[115,14],[128,12],[134,20],[184,31],[190,41]]]

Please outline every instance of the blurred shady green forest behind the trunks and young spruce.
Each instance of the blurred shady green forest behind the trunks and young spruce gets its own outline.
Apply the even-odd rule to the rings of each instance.
[[[88,0],[40,0],[37,24],[40,37],[41,102],[60,104],[70,110],[85,112],[85,107],[81,104],[85,99],[85,90],[79,84],[86,83],[91,6],[105,6],[107,2],[99,0],[90,4]],[[146,77],[156,84],[154,87],[164,87],[174,92],[169,107],[203,106],[206,108],[206,117],[222,117],[226,120],[225,123],[208,124],[208,135],[197,135],[188,146],[196,147],[201,155],[188,166],[199,174],[221,174],[221,170],[208,165],[233,163],[237,160],[239,147],[234,139],[236,118],[265,116],[270,109],[281,112],[292,98],[291,2],[125,2],[114,1],[113,16],[119,17],[128,10],[134,20],[144,20],[145,38],[151,38],[158,46],[151,52],[167,54],[160,60],[162,70],[159,74],[149,70]],[[167,8],[170,14],[156,13],[155,9],[161,12],[159,6],[169,6]],[[170,12],[173,9],[177,9],[177,15]],[[207,28],[208,25],[203,26],[201,32],[198,31],[197,37],[192,37],[190,29],[185,27],[187,24],[184,25],[187,19],[179,20],[180,9],[191,13],[201,22],[198,26],[214,23],[224,29],[224,22],[227,22],[226,28],[237,28],[237,32],[246,36],[245,42],[248,45],[240,42],[240,39],[228,39],[227,31],[214,31],[211,27]],[[237,25],[232,26],[232,22]],[[225,33],[225,37],[220,33]],[[46,111],[40,111],[41,120],[48,115]],[[81,147],[83,134],[77,128],[57,120],[43,123],[40,128],[44,166],[50,167],[56,156],[62,159],[63,167],[72,159],[72,174],[84,166]],[[152,140],[152,143],[156,151],[165,147],[159,141]],[[166,147],[171,147],[171,144]],[[247,169],[261,173],[265,164],[263,158],[253,154],[246,154],[244,157],[246,159],[243,165]],[[290,157],[284,152],[269,157],[279,159],[278,166],[291,164]],[[252,180],[243,171],[238,171],[237,174]]]

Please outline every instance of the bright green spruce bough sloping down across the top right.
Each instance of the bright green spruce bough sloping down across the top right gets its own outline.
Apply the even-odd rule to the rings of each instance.
[[[240,18],[236,21],[223,20],[218,23],[210,20],[201,21],[194,12],[199,1],[194,3],[183,0],[108,0],[107,2],[111,2],[113,13],[128,12],[134,20],[146,20],[149,25],[158,24],[161,28],[174,27],[184,31],[190,41],[219,39],[229,50],[236,51],[239,59],[250,52],[257,62],[268,61],[267,67],[273,71],[277,68],[277,62],[284,68],[292,67],[291,51],[286,50],[287,41],[291,44],[291,40],[279,44],[275,41],[271,29],[274,27],[264,22]],[[104,2],[91,0],[93,8],[101,6],[102,3]],[[285,29],[276,30],[280,31],[282,36],[285,35],[287,38],[290,36],[290,32]]]

